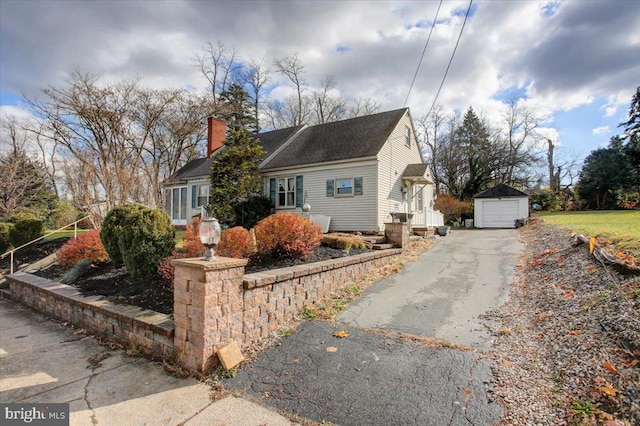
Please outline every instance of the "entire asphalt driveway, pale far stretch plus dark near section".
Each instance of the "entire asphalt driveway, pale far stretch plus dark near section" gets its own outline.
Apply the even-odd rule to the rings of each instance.
[[[488,347],[478,317],[504,301],[523,249],[515,230],[454,231],[374,284],[336,324],[303,323],[224,386],[317,422],[494,424],[502,407],[491,398],[491,362],[481,352],[387,331]]]

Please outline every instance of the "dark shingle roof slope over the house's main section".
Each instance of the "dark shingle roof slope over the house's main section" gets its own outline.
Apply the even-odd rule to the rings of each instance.
[[[375,156],[406,111],[402,108],[307,127],[263,170]]]

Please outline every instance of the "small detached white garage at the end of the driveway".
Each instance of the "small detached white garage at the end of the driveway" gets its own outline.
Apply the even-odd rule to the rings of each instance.
[[[473,199],[476,228],[515,228],[516,219],[529,217],[529,196],[501,183]]]

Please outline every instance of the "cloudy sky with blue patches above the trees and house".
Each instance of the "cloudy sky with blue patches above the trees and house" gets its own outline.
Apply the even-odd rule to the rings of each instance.
[[[444,0],[406,106],[434,101],[468,1]],[[61,85],[75,67],[157,88],[206,81],[194,56],[208,41],[241,59],[298,54],[306,80],[335,77],[343,95],[404,106],[439,1],[0,0],[0,109]],[[272,81],[272,96],[278,89]],[[640,1],[475,0],[437,102],[500,117],[522,97],[548,117],[545,135],[579,158],[620,134],[640,85]]]

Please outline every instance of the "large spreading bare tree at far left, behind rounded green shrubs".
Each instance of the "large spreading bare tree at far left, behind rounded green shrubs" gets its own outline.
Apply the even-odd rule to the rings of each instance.
[[[131,199],[135,186],[145,185],[139,178],[141,151],[132,133],[132,105],[137,80],[103,85],[89,73],[74,71],[61,88],[43,90],[44,101],[31,101],[42,117],[48,138],[64,149],[65,156],[91,169],[99,188],[92,191],[106,209],[138,201]],[[86,197],[84,197],[86,198]]]

